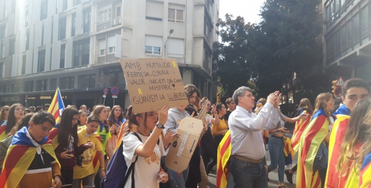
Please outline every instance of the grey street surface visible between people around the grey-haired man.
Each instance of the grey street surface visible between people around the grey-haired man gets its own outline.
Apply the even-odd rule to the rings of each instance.
[[[289,137],[291,138],[292,137],[292,132],[294,130],[294,126],[295,124],[287,124],[285,125],[285,127],[290,131],[290,133],[287,133],[285,134],[286,137]],[[269,155],[269,151],[266,152],[266,159],[267,159],[267,164],[269,165],[271,163],[271,157]],[[298,159],[297,159],[297,155],[295,156],[294,160],[293,160],[293,165],[295,165],[297,163]],[[214,167],[214,170],[216,170],[216,168]],[[268,188],[278,188],[278,172],[277,172],[277,169],[270,172],[269,175],[268,175],[270,181],[268,182]],[[285,185],[287,188],[295,188],[295,183],[296,183],[296,173],[294,173],[294,177],[293,177],[293,184],[289,184],[286,180],[286,175],[284,176],[284,181],[285,181]],[[217,188],[216,186],[216,174],[209,174],[209,187],[210,188]]]

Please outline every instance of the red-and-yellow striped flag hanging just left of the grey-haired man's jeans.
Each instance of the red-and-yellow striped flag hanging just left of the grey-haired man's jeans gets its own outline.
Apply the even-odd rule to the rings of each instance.
[[[231,133],[228,130],[218,146],[217,180],[216,180],[216,186],[218,188],[227,187],[228,169],[226,168],[226,166],[228,165],[229,159],[232,154],[231,143],[232,143]]]

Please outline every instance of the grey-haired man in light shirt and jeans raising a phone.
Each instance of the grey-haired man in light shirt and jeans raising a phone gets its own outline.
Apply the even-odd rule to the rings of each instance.
[[[281,94],[276,91],[267,98],[258,115],[252,113],[255,97],[248,87],[240,87],[233,94],[236,109],[228,124],[231,132],[231,172],[234,188],[268,188],[264,166],[265,146],[261,130],[276,129]]]

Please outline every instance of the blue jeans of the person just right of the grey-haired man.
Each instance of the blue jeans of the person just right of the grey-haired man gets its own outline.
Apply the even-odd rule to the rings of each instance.
[[[271,137],[268,141],[269,154],[271,155],[271,164],[268,166],[268,172],[275,170],[278,166],[278,183],[283,183],[285,170],[284,147],[284,141],[277,137]]]

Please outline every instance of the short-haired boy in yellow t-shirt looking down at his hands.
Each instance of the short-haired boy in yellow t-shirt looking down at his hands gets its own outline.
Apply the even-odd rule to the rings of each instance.
[[[104,154],[103,148],[100,144],[100,137],[96,133],[99,127],[99,117],[91,115],[88,117],[87,126],[78,132],[79,145],[92,142],[93,148],[85,150],[82,157],[78,158],[82,160],[82,165],[76,165],[73,169],[73,183],[72,188],[80,188],[81,183],[83,187],[94,186],[94,176],[100,166],[100,178],[105,177],[104,169]]]

